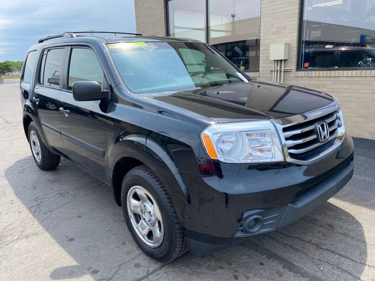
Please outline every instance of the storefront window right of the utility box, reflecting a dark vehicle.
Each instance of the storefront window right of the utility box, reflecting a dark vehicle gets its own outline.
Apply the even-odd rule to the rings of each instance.
[[[375,68],[374,0],[305,0],[300,68]]]

